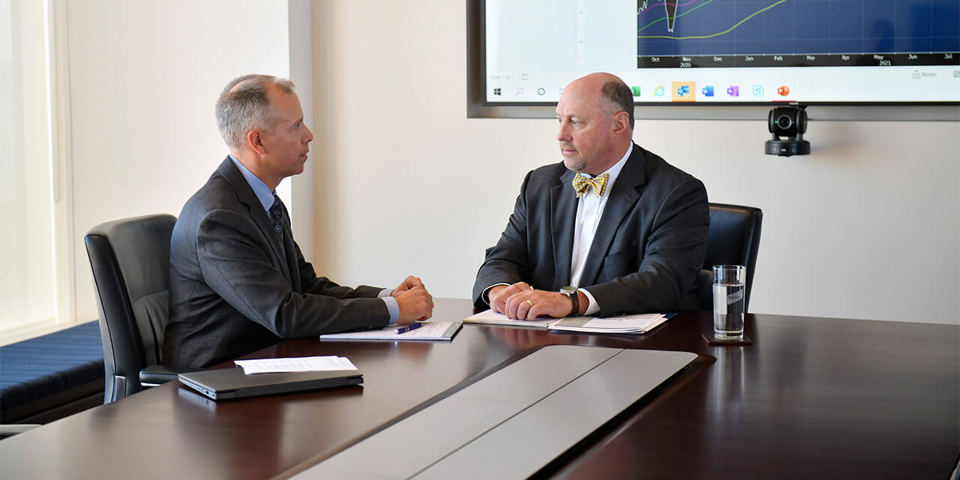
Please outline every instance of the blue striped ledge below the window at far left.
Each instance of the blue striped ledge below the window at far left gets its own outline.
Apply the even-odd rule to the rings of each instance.
[[[103,378],[97,322],[0,347],[0,408],[9,409]]]

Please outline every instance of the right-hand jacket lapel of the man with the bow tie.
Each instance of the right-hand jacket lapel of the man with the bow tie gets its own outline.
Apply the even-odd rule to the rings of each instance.
[[[597,225],[597,233],[593,236],[593,243],[590,244],[590,252],[587,254],[587,262],[583,266],[581,285],[592,285],[597,282],[600,266],[603,264],[604,257],[610,251],[613,237],[623,222],[623,218],[640,198],[640,187],[646,181],[643,150],[634,144],[633,153],[630,154],[627,163],[620,170],[620,175],[617,176],[617,181],[610,191],[610,198],[607,199],[607,204],[603,207],[600,224]],[[567,263],[569,262],[568,259]]]

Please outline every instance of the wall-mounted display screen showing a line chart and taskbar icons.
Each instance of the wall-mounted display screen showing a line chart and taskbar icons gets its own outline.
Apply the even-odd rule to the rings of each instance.
[[[960,102],[960,0],[485,0],[483,102],[594,71],[640,104]]]

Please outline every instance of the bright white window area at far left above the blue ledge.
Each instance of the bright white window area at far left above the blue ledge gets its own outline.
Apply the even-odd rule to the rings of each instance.
[[[43,5],[0,0],[0,341],[54,314]]]

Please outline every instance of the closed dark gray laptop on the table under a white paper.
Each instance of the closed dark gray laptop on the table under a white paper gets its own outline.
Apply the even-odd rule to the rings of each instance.
[[[301,392],[363,383],[360,370],[280,372],[247,375],[243,369],[222,368],[181,373],[180,383],[214,400]]]

